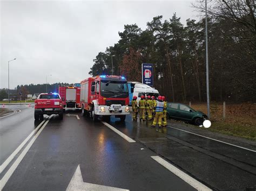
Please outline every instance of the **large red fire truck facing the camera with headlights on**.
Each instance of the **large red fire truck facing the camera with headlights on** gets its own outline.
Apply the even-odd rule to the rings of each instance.
[[[129,91],[125,77],[100,75],[81,81],[80,105],[83,116],[97,121],[99,116],[109,121],[110,116],[125,121],[129,114]]]

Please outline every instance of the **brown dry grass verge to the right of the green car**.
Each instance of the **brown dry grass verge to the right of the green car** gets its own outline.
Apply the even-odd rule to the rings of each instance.
[[[207,114],[206,103],[193,104],[192,108]],[[256,104],[227,104],[226,118],[223,118],[223,103],[210,105],[211,131],[256,140]]]

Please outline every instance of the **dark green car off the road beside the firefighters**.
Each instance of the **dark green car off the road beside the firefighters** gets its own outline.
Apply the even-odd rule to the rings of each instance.
[[[201,111],[196,111],[188,105],[182,103],[167,103],[167,119],[191,122],[195,125],[202,125],[207,115]]]

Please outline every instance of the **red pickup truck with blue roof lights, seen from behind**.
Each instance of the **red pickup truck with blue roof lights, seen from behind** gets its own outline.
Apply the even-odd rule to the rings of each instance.
[[[58,114],[63,119],[63,103],[59,94],[40,94],[35,100],[35,119],[43,120],[45,115]]]

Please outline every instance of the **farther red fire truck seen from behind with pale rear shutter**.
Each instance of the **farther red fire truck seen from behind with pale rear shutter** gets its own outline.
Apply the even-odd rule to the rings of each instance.
[[[66,108],[81,109],[80,87],[59,86],[59,95],[62,98],[64,112]]]

